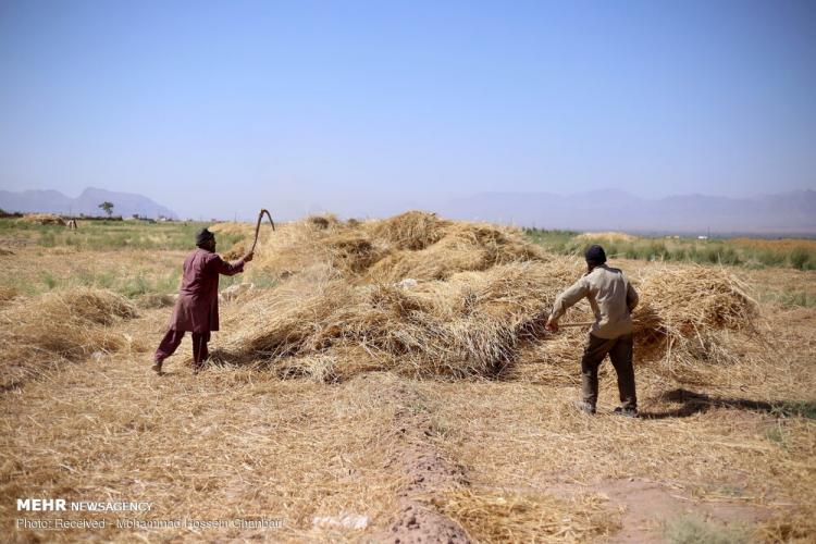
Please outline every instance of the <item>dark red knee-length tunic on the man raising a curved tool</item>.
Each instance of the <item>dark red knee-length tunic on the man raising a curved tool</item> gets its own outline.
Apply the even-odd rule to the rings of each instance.
[[[206,333],[219,330],[219,274],[244,272],[244,261],[226,262],[197,248],[184,260],[182,287],[170,318],[170,329]]]

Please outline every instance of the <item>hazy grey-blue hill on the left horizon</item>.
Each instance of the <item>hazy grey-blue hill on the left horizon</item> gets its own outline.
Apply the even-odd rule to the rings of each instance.
[[[9,212],[103,215],[104,211],[99,208],[99,205],[104,201],[113,202],[114,215],[128,218],[137,213],[147,218],[164,215],[165,218],[178,219],[170,208],[134,193],[118,193],[88,187],[78,197],[71,198],[58,190],[24,190],[22,193],[0,190],[0,208]]]

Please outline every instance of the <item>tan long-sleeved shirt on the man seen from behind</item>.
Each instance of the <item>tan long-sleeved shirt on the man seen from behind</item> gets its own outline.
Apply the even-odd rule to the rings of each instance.
[[[551,319],[557,321],[570,306],[584,297],[589,298],[595,314],[590,333],[599,338],[617,338],[632,332],[631,312],[638,306],[638,292],[623,272],[606,264],[595,267],[558,295]]]

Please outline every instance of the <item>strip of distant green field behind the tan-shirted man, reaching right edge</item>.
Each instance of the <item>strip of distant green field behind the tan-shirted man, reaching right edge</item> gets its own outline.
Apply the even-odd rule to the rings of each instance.
[[[627,235],[586,236],[574,231],[524,228],[531,242],[561,255],[583,255],[592,244],[604,247],[609,257],[667,262],[730,264],[747,268],[790,267],[816,270],[816,240],[752,238],[706,239],[639,237]]]

